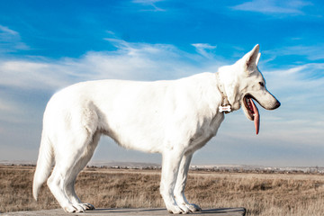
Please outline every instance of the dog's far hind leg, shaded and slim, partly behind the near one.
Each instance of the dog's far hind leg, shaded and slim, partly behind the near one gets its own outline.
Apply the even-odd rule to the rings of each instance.
[[[85,168],[91,157],[94,155],[94,149],[97,147],[100,137],[101,134],[99,132],[94,133],[93,139],[85,148],[83,155],[76,162],[76,165],[72,168],[73,171],[71,175],[67,179],[67,197],[74,205],[81,205],[85,210],[94,210],[94,205],[81,202],[81,200],[77,197],[75,191],[76,176],[83,168]]]

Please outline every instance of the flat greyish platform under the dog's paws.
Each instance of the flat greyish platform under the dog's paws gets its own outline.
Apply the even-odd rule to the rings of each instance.
[[[224,209],[205,209],[193,212],[193,215],[213,215],[213,216],[244,216],[246,210],[244,208],[224,208]],[[28,215],[28,216],[131,216],[131,215],[166,215],[171,216],[166,209],[95,209],[93,211],[85,211],[84,213],[67,213],[62,209],[42,210],[42,211],[15,211],[4,213],[4,215]]]

